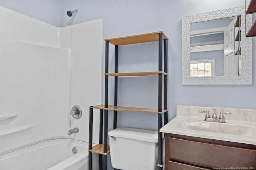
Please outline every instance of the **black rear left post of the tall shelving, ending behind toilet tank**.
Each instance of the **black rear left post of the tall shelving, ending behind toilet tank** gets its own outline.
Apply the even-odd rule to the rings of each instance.
[[[118,45],[115,45],[115,73],[118,73]],[[114,106],[117,106],[118,76],[115,76]],[[116,129],[117,111],[114,111],[113,129]]]

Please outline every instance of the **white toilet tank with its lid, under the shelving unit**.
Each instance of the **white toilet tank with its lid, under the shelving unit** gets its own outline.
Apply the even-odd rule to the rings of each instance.
[[[155,170],[158,164],[158,131],[118,127],[108,132],[113,168]]]

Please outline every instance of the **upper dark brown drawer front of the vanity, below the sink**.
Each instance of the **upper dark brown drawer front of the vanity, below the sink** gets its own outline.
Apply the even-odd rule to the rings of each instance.
[[[169,158],[208,168],[256,168],[256,151],[169,137]],[[196,163],[195,163],[196,162]]]

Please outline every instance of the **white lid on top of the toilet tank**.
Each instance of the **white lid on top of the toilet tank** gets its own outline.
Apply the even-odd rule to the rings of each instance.
[[[139,141],[158,143],[158,131],[136,129],[131,127],[118,127],[108,132],[109,136],[134,139]]]

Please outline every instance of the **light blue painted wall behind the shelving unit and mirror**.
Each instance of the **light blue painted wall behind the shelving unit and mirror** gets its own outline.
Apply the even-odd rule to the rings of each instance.
[[[1,5],[3,1],[1,1]],[[13,7],[18,12],[26,13],[26,9],[31,10],[31,8],[28,8],[30,3],[27,6],[22,3],[20,5],[6,5],[8,0],[5,1],[3,6]],[[32,0],[29,2],[32,3],[32,6],[35,6]],[[55,3],[55,1],[53,2]],[[49,5],[53,2],[49,1]],[[177,105],[256,109],[255,37],[253,38],[254,67],[252,85],[182,85],[182,16],[243,6],[244,4],[244,0],[60,0],[60,23],[50,18],[55,16],[46,17],[42,12],[38,14],[37,10],[32,10],[31,15],[43,18],[45,21],[48,20],[52,25],[59,24],[60,26],[102,18],[103,39],[164,31],[169,38],[168,114],[170,121],[176,116]],[[22,6],[21,9],[19,6]],[[77,8],[80,8],[80,14],[73,18],[66,16],[68,10]],[[104,51],[105,48],[103,48],[103,59]],[[109,57],[109,70],[114,72],[113,45],[110,45]],[[104,68],[104,65],[102,67]],[[158,70],[157,42],[120,46],[120,72],[153,70]],[[109,82],[109,104],[114,104],[114,78],[110,77]],[[120,78],[118,82],[118,105],[158,107],[157,83],[158,78],[154,76]],[[104,83],[102,83],[102,87],[104,87]],[[104,99],[102,99],[102,104],[104,104]],[[109,116],[112,117],[111,111]],[[156,130],[157,115],[118,113],[118,126]],[[109,129],[112,129],[111,119],[109,119]]]

